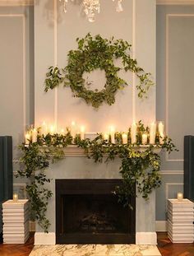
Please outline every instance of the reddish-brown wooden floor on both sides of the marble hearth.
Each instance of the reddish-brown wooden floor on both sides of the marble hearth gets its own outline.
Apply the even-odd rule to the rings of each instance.
[[[33,234],[26,244],[0,244],[0,256],[28,256],[33,244]],[[194,244],[172,244],[165,232],[158,233],[158,248],[163,256],[194,256]]]

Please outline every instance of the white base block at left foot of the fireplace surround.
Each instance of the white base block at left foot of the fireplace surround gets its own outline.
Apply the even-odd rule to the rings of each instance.
[[[35,244],[56,244],[54,232],[35,232]]]

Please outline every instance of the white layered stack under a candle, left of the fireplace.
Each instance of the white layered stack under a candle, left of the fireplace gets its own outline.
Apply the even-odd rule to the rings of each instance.
[[[25,244],[30,235],[28,200],[2,203],[3,243]]]

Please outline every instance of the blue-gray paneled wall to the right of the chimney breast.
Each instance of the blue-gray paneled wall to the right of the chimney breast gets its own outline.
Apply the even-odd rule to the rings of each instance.
[[[166,201],[183,191],[183,137],[194,134],[194,6],[157,7],[156,117],[179,151],[163,155],[156,220],[166,220]]]

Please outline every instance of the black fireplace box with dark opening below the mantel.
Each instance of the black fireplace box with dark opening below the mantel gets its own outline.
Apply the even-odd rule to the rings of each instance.
[[[56,179],[57,244],[133,244],[133,210],[113,193],[121,179]],[[134,187],[135,189],[135,187]]]

